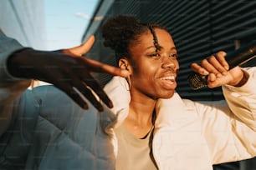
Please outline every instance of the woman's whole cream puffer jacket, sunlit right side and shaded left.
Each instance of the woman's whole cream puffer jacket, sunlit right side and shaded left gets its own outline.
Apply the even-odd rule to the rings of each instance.
[[[0,167],[115,169],[113,128],[130,102],[125,80],[115,77],[105,87],[112,112],[92,105],[83,110],[53,86],[26,90],[30,80],[12,77],[6,67],[9,54],[23,47],[1,32],[0,42]],[[243,87],[223,87],[228,105],[182,100],[177,93],[157,102],[153,154],[159,169],[210,170],[214,163],[255,156],[256,68],[248,72]]]

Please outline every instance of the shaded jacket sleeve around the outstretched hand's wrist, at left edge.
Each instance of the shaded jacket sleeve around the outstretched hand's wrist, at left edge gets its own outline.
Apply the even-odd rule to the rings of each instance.
[[[7,130],[13,112],[13,100],[30,84],[30,80],[12,77],[7,69],[8,57],[23,46],[15,39],[7,37],[0,30],[0,137]]]

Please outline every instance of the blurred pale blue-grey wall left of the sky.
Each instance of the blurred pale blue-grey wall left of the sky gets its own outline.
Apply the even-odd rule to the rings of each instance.
[[[44,0],[1,0],[0,28],[23,46],[44,48]]]

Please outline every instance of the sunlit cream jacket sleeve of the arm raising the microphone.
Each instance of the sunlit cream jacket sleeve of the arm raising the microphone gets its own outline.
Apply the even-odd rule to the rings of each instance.
[[[223,86],[226,102],[196,104],[213,164],[256,155],[256,67],[244,69],[249,78],[243,87]]]

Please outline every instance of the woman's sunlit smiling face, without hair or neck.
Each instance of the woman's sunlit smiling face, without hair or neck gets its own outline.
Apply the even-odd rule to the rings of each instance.
[[[155,28],[155,32],[161,47],[159,51],[156,51],[149,30],[138,38],[139,43],[129,48],[131,93],[140,93],[153,99],[168,98],[172,97],[177,87],[177,49],[168,32],[160,28]]]

